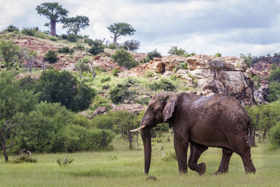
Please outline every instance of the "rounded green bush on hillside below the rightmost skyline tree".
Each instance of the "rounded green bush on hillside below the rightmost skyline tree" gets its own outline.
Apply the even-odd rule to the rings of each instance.
[[[138,62],[133,58],[128,51],[125,49],[120,49],[116,51],[116,54],[113,54],[111,58],[117,62],[119,66],[124,66],[128,69],[133,68],[138,65]]]

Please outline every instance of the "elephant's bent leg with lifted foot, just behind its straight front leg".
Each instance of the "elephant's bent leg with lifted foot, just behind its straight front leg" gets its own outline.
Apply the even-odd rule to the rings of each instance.
[[[188,160],[188,167],[196,171],[199,175],[203,175],[206,171],[206,165],[204,163],[197,164],[198,159],[200,158],[201,154],[206,151],[208,147],[190,143],[190,156]]]

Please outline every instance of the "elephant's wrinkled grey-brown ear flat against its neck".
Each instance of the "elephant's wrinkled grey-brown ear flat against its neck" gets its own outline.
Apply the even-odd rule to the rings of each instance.
[[[162,111],[164,122],[172,117],[175,106],[178,104],[178,96],[176,93],[172,93],[166,96],[166,101],[164,102],[164,108]]]

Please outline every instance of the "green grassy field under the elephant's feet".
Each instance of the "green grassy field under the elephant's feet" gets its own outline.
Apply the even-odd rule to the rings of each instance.
[[[161,149],[163,146],[163,150]],[[259,143],[252,148],[252,159],[257,169],[255,175],[245,175],[241,158],[233,154],[229,173],[212,175],[218,170],[222,150],[209,148],[201,156],[199,163],[206,164],[204,176],[188,170],[180,175],[177,161],[163,162],[161,155],[173,149],[172,142],[157,143],[152,147],[152,161],[149,176],[157,181],[146,180],[143,174],[143,150],[129,151],[128,143],[114,142],[113,152],[85,152],[74,154],[43,154],[33,157],[38,163],[4,163],[0,157],[1,187],[277,187],[280,186],[280,150],[269,151],[268,143]],[[136,147],[136,146],[135,146]],[[59,167],[57,157],[71,156],[75,159],[66,167]],[[117,156],[116,160],[108,157]],[[13,159],[12,156],[9,157]]]

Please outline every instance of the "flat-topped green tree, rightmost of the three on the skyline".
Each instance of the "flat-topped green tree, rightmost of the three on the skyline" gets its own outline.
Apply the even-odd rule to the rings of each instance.
[[[107,28],[114,34],[114,37],[111,36],[114,38],[114,43],[117,43],[117,39],[119,39],[120,36],[131,36],[136,31],[130,24],[124,22],[113,23]]]

